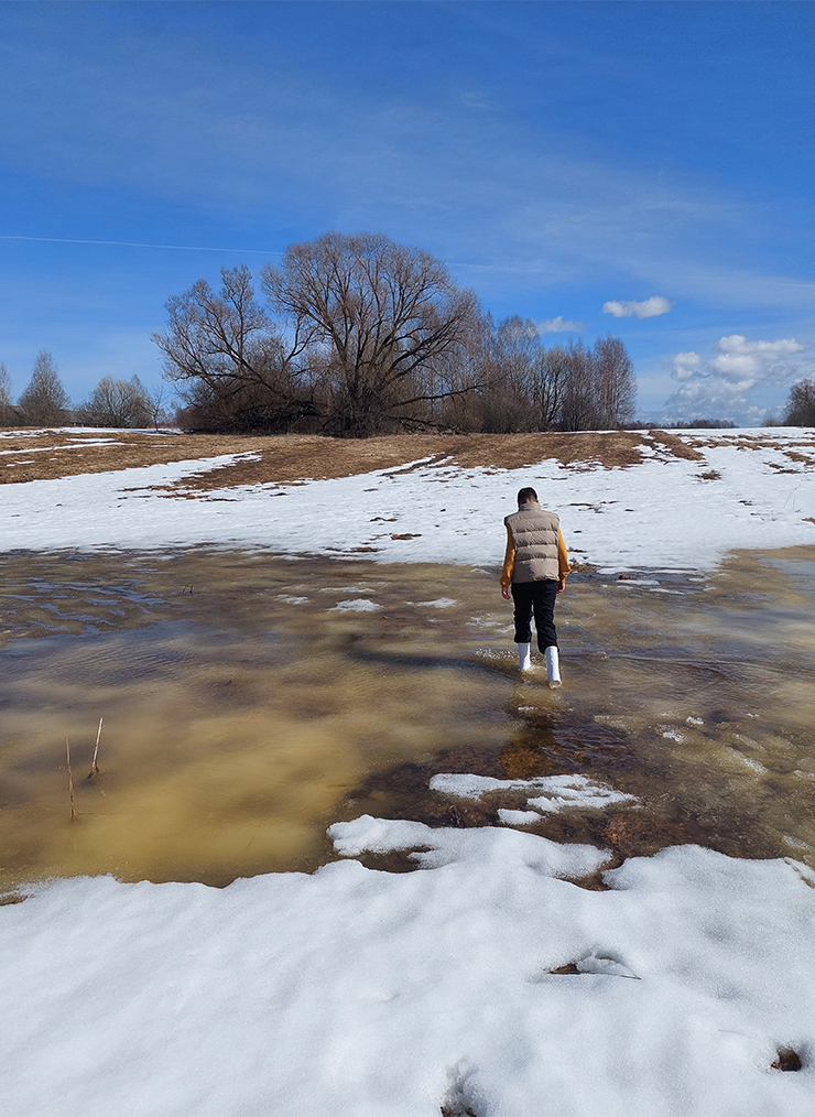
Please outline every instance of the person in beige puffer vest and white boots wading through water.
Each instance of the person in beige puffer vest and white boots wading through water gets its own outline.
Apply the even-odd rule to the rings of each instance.
[[[563,593],[569,572],[560,521],[554,512],[540,507],[534,488],[522,488],[518,493],[518,510],[504,523],[507,525],[507,553],[501,571],[501,595],[509,601],[511,590],[518,666],[521,671],[531,670],[534,612],[538,649],[546,659],[547,681],[550,687],[559,687],[555,599]]]

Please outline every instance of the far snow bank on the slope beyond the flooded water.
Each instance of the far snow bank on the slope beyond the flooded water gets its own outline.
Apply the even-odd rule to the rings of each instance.
[[[813,433],[715,433],[713,447],[704,446],[710,432],[682,436],[701,448],[703,461],[646,448],[646,460],[625,469],[574,469],[555,460],[463,469],[428,460],[297,486],[196,491],[186,499],[152,489],[237,457],[224,456],[3,485],[0,515],[7,548],[209,543],[337,554],[365,546],[375,548],[365,557],[382,562],[495,565],[504,555],[501,519],[514,509],[517,489],[531,484],[560,514],[570,554],[608,571],[710,569],[735,547],[815,543],[807,518],[815,517],[812,468],[763,445],[812,446]],[[393,517],[387,531],[383,515]]]

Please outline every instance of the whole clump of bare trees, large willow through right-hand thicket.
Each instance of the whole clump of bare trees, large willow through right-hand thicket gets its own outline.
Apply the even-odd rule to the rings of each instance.
[[[257,287],[257,289],[256,289]],[[364,438],[415,430],[587,430],[633,419],[616,337],[547,349],[495,323],[441,261],[383,236],[293,245],[256,284],[241,265],[171,298],[154,341],[199,430]]]

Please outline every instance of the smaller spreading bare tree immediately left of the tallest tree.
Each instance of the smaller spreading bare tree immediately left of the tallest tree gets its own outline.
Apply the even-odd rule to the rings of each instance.
[[[153,335],[164,373],[193,410],[209,409],[208,421],[288,430],[314,412],[311,385],[296,363],[310,333],[284,338],[256,303],[243,265],[223,268],[221,280],[218,294],[201,279],[167,302],[167,331]]]

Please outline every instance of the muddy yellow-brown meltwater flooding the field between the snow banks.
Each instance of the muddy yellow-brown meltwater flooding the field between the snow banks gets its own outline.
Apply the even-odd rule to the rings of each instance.
[[[325,828],[363,811],[478,825],[522,805],[444,800],[439,771],[604,779],[642,805],[534,831],[621,857],[700,841],[815,865],[813,547],[572,575],[560,691],[540,667],[519,678],[497,571],[201,548],[0,562],[4,888],[222,885],[314,868]]]

